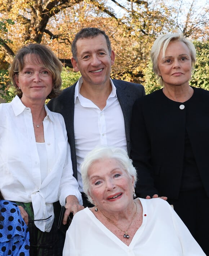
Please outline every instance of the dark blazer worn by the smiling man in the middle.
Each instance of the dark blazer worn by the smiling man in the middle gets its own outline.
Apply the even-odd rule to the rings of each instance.
[[[76,82],[77,83],[77,82]],[[74,137],[74,95],[76,83],[62,91],[57,97],[53,98],[47,104],[53,112],[62,114],[65,119],[68,142],[71,147],[72,168],[74,177],[77,179],[77,160]],[[121,80],[114,80],[118,101],[123,111],[125,123],[125,135],[128,154],[130,153],[130,120],[132,107],[135,100],[145,95],[144,87],[141,84],[129,83]],[[113,117],[114,118],[114,117]]]

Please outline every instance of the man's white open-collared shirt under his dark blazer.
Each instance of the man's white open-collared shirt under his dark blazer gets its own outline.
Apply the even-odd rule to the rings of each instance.
[[[80,164],[86,154],[98,145],[120,147],[127,151],[123,112],[111,81],[112,92],[106,106],[100,110],[91,100],[80,94],[82,77],[75,87],[74,133],[77,157],[77,180],[83,192]]]

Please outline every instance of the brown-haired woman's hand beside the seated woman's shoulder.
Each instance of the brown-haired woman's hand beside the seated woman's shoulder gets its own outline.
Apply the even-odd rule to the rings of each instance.
[[[67,223],[67,218],[71,212],[74,215],[76,212],[79,212],[80,210],[84,209],[84,207],[79,204],[79,201],[78,201],[77,197],[75,197],[75,195],[68,195],[66,197],[65,208],[66,208],[66,210],[65,210],[65,214],[64,214],[64,218],[63,218],[64,225]]]

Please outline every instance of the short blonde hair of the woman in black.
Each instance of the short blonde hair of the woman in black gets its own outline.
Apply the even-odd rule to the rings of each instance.
[[[163,79],[161,76],[159,76],[158,57],[159,57],[161,49],[163,49],[163,57],[165,57],[165,51],[166,51],[166,48],[168,47],[168,44],[170,43],[170,41],[181,41],[184,44],[186,44],[190,50],[192,67],[194,67],[195,62],[196,62],[195,46],[194,46],[194,44],[192,44],[192,42],[190,40],[188,40],[186,37],[184,37],[182,33],[167,33],[164,35],[160,35],[154,41],[150,55],[151,55],[151,59],[152,59],[153,71],[157,75],[157,79],[159,80],[161,85],[163,85]]]

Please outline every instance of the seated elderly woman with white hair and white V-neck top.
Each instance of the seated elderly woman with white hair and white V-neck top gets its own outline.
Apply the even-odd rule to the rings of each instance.
[[[205,255],[163,199],[135,198],[136,170],[123,149],[98,146],[81,164],[92,208],[77,212],[63,256]]]

